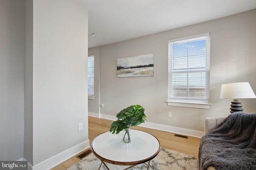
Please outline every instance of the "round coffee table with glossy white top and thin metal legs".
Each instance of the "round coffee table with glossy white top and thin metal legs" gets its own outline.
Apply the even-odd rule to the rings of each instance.
[[[156,157],[159,150],[160,143],[156,137],[150,133],[134,129],[131,130],[130,143],[122,142],[122,132],[112,134],[109,131],[98,135],[92,141],[92,152],[105,166],[105,162],[116,165],[131,165],[126,169],[145,162],[148,162],[149,168],[151,166],[150,160]]]

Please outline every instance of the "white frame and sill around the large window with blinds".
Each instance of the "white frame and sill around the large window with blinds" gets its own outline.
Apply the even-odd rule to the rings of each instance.
[[[194,98],[194,97],[171,97],[170,92],[172,90],[172,49],[170,49],[170,43],[181,43],[182,41],[191,41],[195,39],[195,41],[200,41],[200,37],[208,37],[208,43],[206,44],[206,69],[202,72],[205,72],[206,76],[206,98]],[[186,71],[194,72],[194,71]],[[187,82],[188,84],[188,82]],[[168,41],[168,106],[180,106],[180,107],[194,107],[194,108],[203,108],[209,109],[209,98],[210,98],[210,33],[204,33],[200,35],[194,35],[189,37],[183,37],[179,39],[172,39]]]

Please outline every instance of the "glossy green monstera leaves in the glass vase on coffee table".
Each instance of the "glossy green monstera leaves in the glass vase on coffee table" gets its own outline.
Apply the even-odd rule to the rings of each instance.
[[[130,126],[138,126],[140,123],[145,123],[146,115],[144,108],[140,105],[129,106],[116,114],[117,120],[110,125],[110,132],[118,134],[123,129],[128,129]]]

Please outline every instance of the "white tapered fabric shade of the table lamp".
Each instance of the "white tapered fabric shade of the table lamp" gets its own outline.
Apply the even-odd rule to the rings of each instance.
[[[248,82],[222,84],[220,90],[221,99],[246,99],[256,98]]]

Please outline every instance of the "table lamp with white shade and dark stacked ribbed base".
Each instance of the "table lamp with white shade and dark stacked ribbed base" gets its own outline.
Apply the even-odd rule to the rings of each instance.
[[[221,99],[234,99],[231,102],[230,113],[243,111],[241,102],[238,99],[256,98],[248,82],[222,84],[220,90]]]

